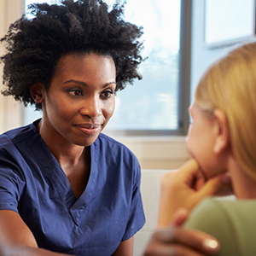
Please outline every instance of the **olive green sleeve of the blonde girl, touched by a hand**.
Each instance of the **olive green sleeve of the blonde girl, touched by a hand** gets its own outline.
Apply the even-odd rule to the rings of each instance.
[[[241,255],[236,229],[234,229],[229,214],[225,212],[222,203],[217,199],[209,198],[202,201],[201,204],[195,207],[195,210],[191,212],[184,226],[204,231],[216,237],[221,246],[220,252],[216,255]]]

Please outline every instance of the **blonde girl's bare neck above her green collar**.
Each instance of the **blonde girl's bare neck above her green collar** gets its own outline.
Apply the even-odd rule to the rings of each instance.
[[[230,157],[228,170],[237,199],[256,199],[256,180],[238,165],[233,156]]]

